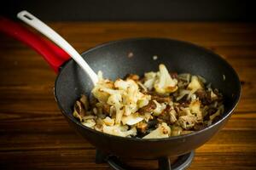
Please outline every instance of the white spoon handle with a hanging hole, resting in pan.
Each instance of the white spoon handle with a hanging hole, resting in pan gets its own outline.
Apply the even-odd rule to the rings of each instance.
[[[60,46],[64,51],[67,52],[78,64],[79,66],[90,76],[90,79],[94,84],[98,82],[98,77],[96,73],[90,68],[81,55],[58,33],[52,30],[49,26],[44,24],[41,20],[39,20],[34,15],[30,14],[26,10],[21,11],[17,14],[17,17],[20,20],[23,20],[29,26],[34,27],[36,30],[44,34],[44,36],[48,37],[50,40],[55,42],[58,46]]]

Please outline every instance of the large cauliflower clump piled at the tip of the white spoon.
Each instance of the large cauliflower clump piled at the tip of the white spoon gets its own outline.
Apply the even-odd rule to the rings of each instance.
[[[123,116],[129,116],[139,108],[148,105],[151,99],[150,95],[139,91],[137,82],[132,79],[118,79],[115,82],[102,80],[96,84],[92,93],[102,104],[109,105],[109,112],[112,112],[114,107],[115,124],[121,123]]]

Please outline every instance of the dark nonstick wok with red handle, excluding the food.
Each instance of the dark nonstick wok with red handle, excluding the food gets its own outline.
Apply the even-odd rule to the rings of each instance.
[[[90,95],[93,88],[90,77],[73,59],[69,59],[54,43],[38,37],[13,21],[1,18],[0,30],[25,42],[44,56],[58,73],[55,79],[55,99],[63,116],[76,131],[104,153],[144,159],[182,156],[205,144],[224,126],[241,96],[241,84],[236,71],[218,54],[206,48],[189,42],[151,37],[107,42],[81,54],[91,68],[96,72],[102,71],[104,77],[114,80],[127,73],[143,75],[147,71],[157,71],[158,65],[163,63],[169,71],[201,75],[212,82],[212,86],[224,94],[225,111],[218,122],[201,131],[166,139],[123,138],[100,133],[83,126],[73,117],[74,102],[81,94]],[[132,57],[128,57],[130,53]],[[153,59],[154,55],[158,59]],[[160,167],[171,169],[169,165],[165,166],[168,162],[162,164]]]

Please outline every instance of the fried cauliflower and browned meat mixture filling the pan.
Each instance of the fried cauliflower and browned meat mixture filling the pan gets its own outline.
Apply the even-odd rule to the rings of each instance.
[[[111,81],[102,77],[82,95],[73,116],[86,127],[122,137],[159,139],[193,133],[218,121],[223,95],[203,77],[169,73],[165,65],[143,77],[130,74]]]

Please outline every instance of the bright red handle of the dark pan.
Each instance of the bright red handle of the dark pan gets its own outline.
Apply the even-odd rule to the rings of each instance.
[[[33,48],[44,57],[56,73],[59,71],[60,66],[70,59],[70,56],[63,49],[56,46],[55,43],[45,40],[26,29],[26,27],[20,26],[2,16],[0,16],[0,31],[15,37],[20,42],[24,42],[27,46]]]

